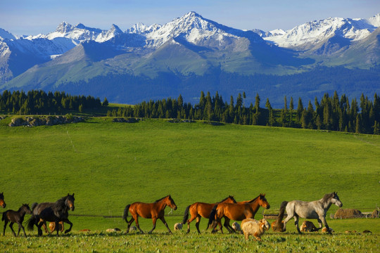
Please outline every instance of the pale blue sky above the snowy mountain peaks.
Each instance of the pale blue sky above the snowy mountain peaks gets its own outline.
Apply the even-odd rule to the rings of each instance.
[[[0,0],[0,28],[16,35],[49,33],[62,21],[126,30],[165,24],[189,11],[230,27],[269,31],[329,17],[370,18],[379,0]]]

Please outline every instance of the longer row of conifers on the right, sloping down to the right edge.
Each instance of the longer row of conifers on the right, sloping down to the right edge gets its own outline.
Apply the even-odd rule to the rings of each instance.
[[[177,118],[177,119],[201,119],[215,122],[234,124],[252,124],[267,126],[289,126],[304,129],[326,129],[332,131],[346,131],[363,134],[380,133],[380,98],[375,93],[374,100],[367,96],[349,101],[346,95],[338,98],[335,92],[333,96],[325,93],[322,100],[315,98],[314,105],[309,100],[304,106],[301,98],[298,98],[297,108],[291,97],[284,98],[284,107],[281,110],[272,108],[267,98],[265,108],[260,108],[260,96],[255,96],[255,103],[248,107],[245,105],[246,94],[239,93],[236,101],[231,96],[229,103],[222,96],[210,92],[205,95],[201,92],[199,103],[191,105],[184,103],[182,96],[177,99],[167,98],[163,100],[139,103],[134,106],[108,110],[107,115],[113,117],[147,117],[147,118]]]

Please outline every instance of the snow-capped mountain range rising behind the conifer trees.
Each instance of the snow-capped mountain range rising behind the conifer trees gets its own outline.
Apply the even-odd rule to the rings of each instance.
[[[121,91],[140,94],[135,100],[147,96],[147,91],[165,97],[165,92],[175,92],[173,82],[186,92],[193,89],[190,84],[201,90],[213,84],[215,90],[240,86],[239,90],[255,92],[289,91],[298,86],[285,89],[272,83],[264,88],[255,84],[255,74],[291,75],[321,66],[376,67],[380,65],[379,25],[380,14],[368,19],[327,18],[288,31],[244,31],[189,12],[164,25],[137,23],[125,32],[117,25],[101,30],[68,22],[37,36],[17,37],[0,29],[0,91],[62,87],[86,93],[88,88],[109,92],[115,100]],[[115,94],[105,82],[118,85]],[[314,94],[322,92],[323,85],[301,90]]]

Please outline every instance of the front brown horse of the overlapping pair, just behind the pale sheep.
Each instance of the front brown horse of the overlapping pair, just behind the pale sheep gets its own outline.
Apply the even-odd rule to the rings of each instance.
[[[215,233],[215,228],[219,224],[220,231],[222,231],[221,219],[224,217],[224,226],[227,228],[229,233],[234,232],[234,228],[229,225],[229,220],[243,221],[243,219],[255,219],[255,214],[258,212],[259,207],[264,207],[265,209],[270,208],[270,204],[265,198],[265,194],[258,195],[253,200],[243,204],[230,204],[230,203],[220,203],[213,207],[213,211],[210,214],[210,219],[208,221],[208,226],[210,226],[213,221],[217,221],[213,225],[213,233]]]

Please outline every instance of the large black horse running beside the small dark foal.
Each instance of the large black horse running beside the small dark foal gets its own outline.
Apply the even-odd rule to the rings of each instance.
[[[65,197],[61,197],[61,199],[56,202],[44,202],[44,203],[34,203],[32,205],[32,217],[30,217],[27,222],[27,228],[32,231],[33,226],[36,225],[38,228],[38,236],[42,235],[42,225],[46,223],[46,221],[51,221],[56,223],[56,231],[58,236],[58,223],[63,221],[70,225],[65,233],[69,233],[72,228],[72,223],[68,220],[68,210],[74,211],[74,193],[72,195],[68,194]]]

